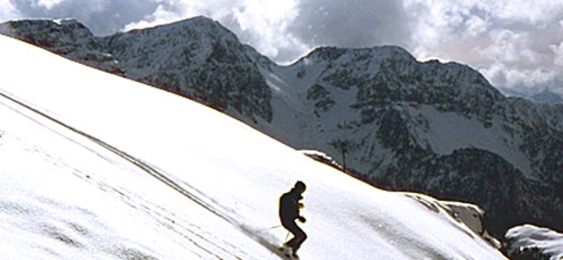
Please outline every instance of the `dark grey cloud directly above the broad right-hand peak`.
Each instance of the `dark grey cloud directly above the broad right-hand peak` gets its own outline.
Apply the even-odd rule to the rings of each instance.
[[[289,28],[310,46],[405,46],[410,26],[403,1],[308,0],[298,5],[299,16]]]

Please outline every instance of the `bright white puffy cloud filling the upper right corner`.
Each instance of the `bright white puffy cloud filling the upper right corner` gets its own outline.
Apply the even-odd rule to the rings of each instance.
[[[479,69],[495,86],[529,92],[563,78],[563,2],[405,0],[410,48]]]

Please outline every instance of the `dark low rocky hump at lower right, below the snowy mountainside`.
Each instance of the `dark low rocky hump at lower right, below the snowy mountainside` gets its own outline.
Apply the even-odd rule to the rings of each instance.
[[[398,190],[419,190],[438,198],[479,204],[488,209],[486,229],[495,235],[524,223],[524,219],[559,225],[545,215],[556,213],[552,203],[538,196],[551,193],[552,188],[527,180],[512,164],[486,150],[455,150],[451,155],[400,164],[396,171],[410,172],[412,177],[403,180],[395,171],[388,171],[379,180]]]

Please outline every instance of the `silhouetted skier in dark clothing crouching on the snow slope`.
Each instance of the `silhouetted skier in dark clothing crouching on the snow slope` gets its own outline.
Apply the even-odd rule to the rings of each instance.
[[[307,239],[305,232],[303,232],[295,222],[296,220],[301,223],[307,221],[299,214],[299,209],[304,207],[299,201],[303,199],[302,194],[305,192],[305,189],[305,183],[303,183],[303,181],[297,181],[295,186],[293,186],[288,193],[284,193],[279,197],[279,219],[281,226],[293,234],[293,238],[285,242],[284,246],[291,248],[291,254],[293,254],[294,257],[297,257],[297,250]]]

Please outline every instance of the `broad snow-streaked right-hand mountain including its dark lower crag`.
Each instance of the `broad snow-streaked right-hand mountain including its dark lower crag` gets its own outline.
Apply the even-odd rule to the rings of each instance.
[[[272,89],[294,86],[274,98],[285,104],[272,124],[291,133],[280,140],[337,159],[344,147],[348,168],[376,186],[479,204],[498,236],[530,221],[563,228],[562,106],[505,98],[467,66],[391,46],[319,48],[272,71],[284,79],[270,77]]]

